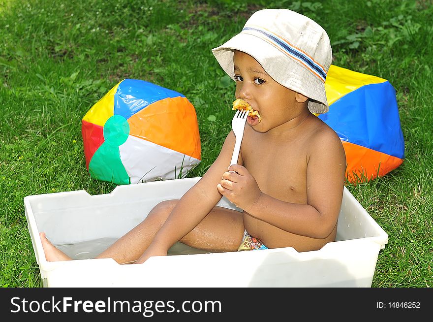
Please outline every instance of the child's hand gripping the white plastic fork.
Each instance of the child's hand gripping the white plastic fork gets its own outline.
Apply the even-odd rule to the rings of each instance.
[[[239,164],[232,164],[228,167],[228,171],[223,173],[222,180],[216,189],[233,202],[236,207],[247,212],[262,193],[247,168]]]

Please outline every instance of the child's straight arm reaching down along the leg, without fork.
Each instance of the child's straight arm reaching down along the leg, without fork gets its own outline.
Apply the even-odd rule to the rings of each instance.
[[[203,177],[182,196],[137,263],[144,262],[151,256],[167,255],[168,249],[194,229],[216,206],[221,199],[216,185],[221,181],[222,174],[230,163],[235,140],[235,135],[231,131],[216,161]]]

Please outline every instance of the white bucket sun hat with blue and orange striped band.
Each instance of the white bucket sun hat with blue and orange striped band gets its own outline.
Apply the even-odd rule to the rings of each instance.
[[[234,50],[252,56],[279,84],[309,97],[311,113],[329,110],[325,79],[332,61],[331,43],[310,18],[289,9],[254,12],[240,33],[212,49],[233,79]]]

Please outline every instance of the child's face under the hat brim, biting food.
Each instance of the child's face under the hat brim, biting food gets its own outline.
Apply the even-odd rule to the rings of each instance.
[[[233,62],[236,98],[247,101],[262,119],[248,117],[254,130],[266,132],[308,113],[308,98],[277,83],[254,58],[235,51]]]

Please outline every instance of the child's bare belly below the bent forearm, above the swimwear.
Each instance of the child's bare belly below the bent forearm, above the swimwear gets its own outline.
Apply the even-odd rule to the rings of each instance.
[[[293,247],[298,252],[319,250],[326,243],[335,241],[337,234],[336,225],[332,233],[324,239],[296,235],[258,220],[247,212],[244,212],[244,226],[251,236],[260,239],[268,248]]]

